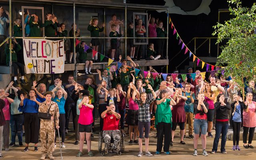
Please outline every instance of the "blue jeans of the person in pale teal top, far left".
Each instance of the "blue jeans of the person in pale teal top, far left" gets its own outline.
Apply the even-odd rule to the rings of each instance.
[[[10,116],[10,126],[11,126],[11,140],[15,142],[16,134],[18,135],[19,142],[22,142],[22,125],[24,122],[23,114],[11,114]]]

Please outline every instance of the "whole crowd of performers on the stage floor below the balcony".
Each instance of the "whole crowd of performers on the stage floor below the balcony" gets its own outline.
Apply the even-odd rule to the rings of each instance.
[[[202,139],[202,154],[206,152],[206,137],[214,138],[211,153],[218,150],[220,134],[222,134],[220,152],[227,154],[226,134],[228,127],[233,129],[233,148],[241,150],[239,146],[240,128],[243,127],[243,147],[254,148],[252,139],[256,127],[256,101],[254,80],[246,86],[246,100],[242,100],[240,87],[231,76],[209,76],[204,79],[200,71],[196,77],[191,77],[192,68],[188,74],[180,78],[178,74],[168,75],[166,80],[161,74],[156,77],[152,73],[157,71],[150,66],[147,74],[135,72],[140,68],[138,64],[127,59],[132,66],[123,60],[122,66],[116,72],[117,66],[100,70],[98,78],[100,84],[95,84],[94,76],[88,75],[84,84],[74,81],[74,76],[68,76],[68,83],[63,84],[60,77],[54,78],[54,84],[47,90],[45,84],[33,82],[28,93],[10,82],[6,90],[0,89],[0,135],[4,137],[4,148],[9,150],[14,146],[18,135],[19,146],[22,144],[22,134],[25,133],[24,152],[28,151],[29,143],[34,143],[34,151],[38,151],[38,138],[42,143],[42,157],[54,159],[52,152],[56,147],[56,130],[60,130],[62,137],[61,148],[65,146],[65,135],[69,130],[68,124],[72,113],[73,129],[75,131],[74,144],[80,143],[80,150],[76,156],[83,155],[83,144],[86,140],[88,155],[94,156],[91,150],[91,136],[95,132],[95,110],[100,116],[100,131],[106,144],[108,153],[120,150],[124,126],[128,125],[130,144],[139,144],[138,157],[142,156],[142,140],[145,138],[145,155],[152,156],[148,150],[149,132],[152,118],[157,130],[157,146],[155,154],[161,154],[164,141],[164,153],[170,154],[170,146],[175,141],[176,127],[180,128],[180,144],[186,145],[185,138],[194,139],[194,156],[198,155],[198,139]],[[178,71],[174,71],[177,73]],[[176,75],[176,76],[174,76]],[[12,89],[13,93],[8,94]],[[46,116],[44,114],[50,114]],[[48,119],[47,119],[48,118]],[[194,119],[194,120],[193,120]],[[40,122],[39,122],[40,121]],[[188,123],[188,136],[186,124]],[[22,125],[24,124],[24,129]],[[9,126],[11,126],[11,143],[9,142]],[[215,135],[212,130],[215,130]],[[247,135],[249,132],[249,138]],[[193,135],[194,133],[194,135]],[[114,139],[114,145],[110,139]],[[248,140],[248,142],[247,142]],[[2,147],[2,141],[0,141]],[[1,155],[2,156],[2,155]]]

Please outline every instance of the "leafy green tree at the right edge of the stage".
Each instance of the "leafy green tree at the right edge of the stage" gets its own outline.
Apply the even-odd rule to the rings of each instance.
[[[244,77],[251,80],[256,64],[256,4],[251,8],[242,7],[240,0],[228,0],[229,11],[233,18],[224,24],[213,26],[217,35],[217,43],[228,38],[226,45],[217,60],[218,66],[225,66],[224,75],[232,76],[243,93]]]

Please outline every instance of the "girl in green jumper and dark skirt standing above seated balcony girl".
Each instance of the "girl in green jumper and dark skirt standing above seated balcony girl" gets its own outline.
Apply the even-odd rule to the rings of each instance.
[[[100,32],[104,31],[105,23],[102,24],[102,28],[98,26],[98,19],[94,18],[90,21],[87,30],[91,32],[91,37],[99,37]],[[99,38],[92,38],[91,40],[92,49],[98,52],[98,46],[100,45]],[[93,57],[93,59],[98,60],[98,54]]]

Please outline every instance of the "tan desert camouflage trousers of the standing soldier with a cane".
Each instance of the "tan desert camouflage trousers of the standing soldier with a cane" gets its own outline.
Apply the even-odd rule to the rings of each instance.
[[[53,120],[40,121],[40,139],[42,153],[51,154],[54,151],[55,124]]]

